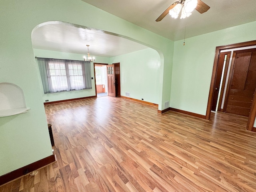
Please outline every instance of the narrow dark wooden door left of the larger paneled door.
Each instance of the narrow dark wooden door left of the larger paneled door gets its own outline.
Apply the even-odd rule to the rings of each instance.
[[[225,72],[228,69],[230,53],[231,52],[222,52],[222,53],[220,53],[220,56],[219,56],[215,84],[214,84],[214,93],[213,93],[213,99],[212,99],[212,108],[211,108],[212,111],[216,111],[216,106],[217,106],[218,96],[219,96],[219,91],[220,91],[221,77],[224,76],[223,79],[225,80],[225,77],[226,77]],[[225,71],[224,71],[224,74],[222,75],[224,64],[225,64]],[[225,82],[223,81],[222,86],[224,84],[225,84]]]

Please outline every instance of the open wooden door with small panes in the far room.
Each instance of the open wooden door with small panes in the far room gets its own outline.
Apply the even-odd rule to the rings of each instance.
[[[115,86],[115,67],[114,65],[107,65],[107,78],[108,78],[108,96],[116,96]]]

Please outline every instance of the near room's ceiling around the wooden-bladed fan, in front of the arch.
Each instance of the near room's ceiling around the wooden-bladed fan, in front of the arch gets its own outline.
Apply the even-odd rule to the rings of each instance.
[[[124,20],[148,29],[170,40],[197,36],[256,20],[256,0],[202,0],[210,9],[200,14],[196,10],[186,19],[167,15],[156,18],[178,0],[82,0]]]

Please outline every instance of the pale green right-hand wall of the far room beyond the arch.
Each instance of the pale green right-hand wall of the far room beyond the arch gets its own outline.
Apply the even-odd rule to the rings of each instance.
[[[121,95],[158,104],[160,84],[160,56],[151,48],[111,58],[120,62]]]

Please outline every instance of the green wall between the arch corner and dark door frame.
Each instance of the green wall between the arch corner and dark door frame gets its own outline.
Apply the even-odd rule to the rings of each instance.
[[[216,46],[256,40],[256,22],[174,43],[170,106],[206,114]]]

